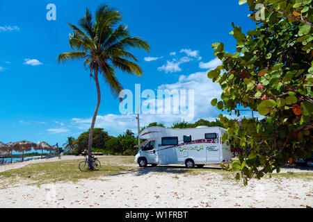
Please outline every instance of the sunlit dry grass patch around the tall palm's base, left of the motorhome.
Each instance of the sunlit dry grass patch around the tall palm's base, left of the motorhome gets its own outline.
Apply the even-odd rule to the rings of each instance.
[[[26,167],[12,169],[0,173],[1,187],[17,185],[20,181],[27,185],[43,185],[54,182],[78,182],[81,179],[104,179],[104,176],[129,173],[135,167],[127,167],[119,164],[128,164],[131,157],[100,157],[102,167],[99,171],[79,171],[81,160],[66,160],[57,162],[45,162],[29,164]],[[133,157],[134,159],[134,157]]]

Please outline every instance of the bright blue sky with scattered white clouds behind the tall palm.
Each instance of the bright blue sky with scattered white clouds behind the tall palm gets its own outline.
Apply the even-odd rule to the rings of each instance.
[[[56,5],[56,21],[46,19],[48,3]],[[131,51],[140,61],[144,74],[128,76],[118,71],[125,89],[195,89],[195,119],[215,119],[216,108],[209,102],[220,88],[207,78],[207,71],[218,65],[211,44],[223,42],[236,50],[230,31],[232,22],[246,32],[255,27],[248,7],[238,1],[61,1],[0,0],[0,141],[27,139],[63,144],[67,136],[78,137],[88,130],[96,105],[96,89],[83,62],[58,65],[59,53],[70,51],[67,22],[77,24],[86,7],[95,12],[101,3],[117,8],[131,35],[143,37],[151,51]],[[119,112],[104,81],[102,104],[96,127],[111,135],[136,132],[134,115]],[[172,114],[143,115],[142,125],[179,121]],[[134,121],[135,120],[135,121]]]

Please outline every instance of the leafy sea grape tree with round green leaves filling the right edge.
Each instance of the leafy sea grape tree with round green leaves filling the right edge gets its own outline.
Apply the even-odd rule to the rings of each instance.
[[[222,65],[208,77],[223,89],[221,101],[213,99],[211,105],[239,119],[239,109],[259,113],[259,118],[240,121],[219,115],[228,133],[223,141],[242,151],[239,161],[225,168],[239,170],[236,178],[246,185],[313,150],[313,16],[312,0],[239,1],[243,3],[257,26],[245,34],[232,24],[235,53],[225,51],[223,43],[211,45]]]

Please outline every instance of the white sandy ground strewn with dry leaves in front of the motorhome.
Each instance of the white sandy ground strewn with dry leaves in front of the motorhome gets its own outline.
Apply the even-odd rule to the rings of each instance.
[[[62,157],[62,160],[82,157]],[[0,166],[0,171],[24,167],[34,160]],[[273,177],[241,181],[221,173],[200,175],[144,171],[51,185],[0,189],[0,207],[306,207],[313,205],[313,182]],[[282,171],[291,171],[282,169]],[[312,172],[312,171],[310,171]]]

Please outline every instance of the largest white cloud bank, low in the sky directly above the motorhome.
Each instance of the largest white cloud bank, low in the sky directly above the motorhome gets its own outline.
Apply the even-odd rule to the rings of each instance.
[[[207,78],[207,71],[197,72],[189,76],[180,76],[177,83],[160,85],[158,89],[180,90],[180,89],[193,89],[194,90],[194,118],[193,121],[198,119],[207,119],[214,121],[218,118],[218,111],[215,107],[211,106],[211,100],[214,98],[220,99],[222,90],[217,83],[213,83],[211,79]],[[188,92],[188,91],[187,91]],[[157,95],[157,92],[155,92]],[[152,99],[157,102],[157,99]],[[157,104],[156,104],[157,107]],[[95,123],[95,127],[104,128],[111,135],[119,135],[125,132],[126,129],[132,130],[137,133],[137,121],[135,114],[106,114],[99,115]],[[141,114],[141,127],[147,126],[152,122],[161,122],[166,126],[171,126],[172,123],[182,121],[182,113],[173,114]],[[92,118],[80,119],[73,118],[71,126],[79,130],[88,130]]]

